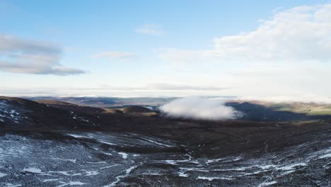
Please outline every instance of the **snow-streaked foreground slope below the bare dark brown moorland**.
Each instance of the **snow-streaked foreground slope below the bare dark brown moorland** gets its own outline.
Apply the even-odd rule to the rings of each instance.
[[[311,149],[321,143],[325,149]],[[0,136],[0,186],[286,186],[302,179],[329,186],[328,145],[194,158],[179,142],[130,133],[6,133]]]

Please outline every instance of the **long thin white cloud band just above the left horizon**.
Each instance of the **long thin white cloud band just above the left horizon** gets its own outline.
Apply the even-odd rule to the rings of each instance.
[[[85,83],[85,81],[81,81]],[[187,85],[187,84],[165,84],[153,83],[137,86],[126,84],[122,86],[112,86],[106,84],[81,85],[69,84],[68,86],[1,86],[0,96],[199,96],[205,94],[205,91],[216,92],[231,88],[224,88],[210,85]]]

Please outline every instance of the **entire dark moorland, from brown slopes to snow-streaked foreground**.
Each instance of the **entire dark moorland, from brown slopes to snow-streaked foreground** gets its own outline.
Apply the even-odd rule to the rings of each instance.
[[[0,186],[331,186],[330,116],[231,106],[245,118],[1,97]]]

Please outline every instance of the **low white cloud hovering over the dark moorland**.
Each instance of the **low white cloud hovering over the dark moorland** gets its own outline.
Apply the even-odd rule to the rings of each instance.
[[[242,116],[239,111],[225,106],[224,100],[201,97],[178,98],[161,106],[160,110],[169,118],[194,120],[228,120]]]

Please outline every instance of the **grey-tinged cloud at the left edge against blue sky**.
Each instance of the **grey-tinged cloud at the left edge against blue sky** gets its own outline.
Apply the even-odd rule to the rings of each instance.
[[[59,64],[62,49],[49,42],[0,35],[0,70],[22,74],[82,74]]]

